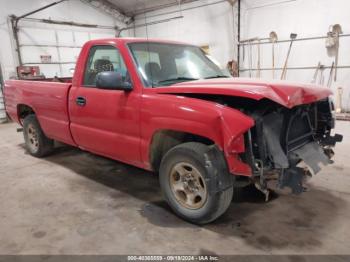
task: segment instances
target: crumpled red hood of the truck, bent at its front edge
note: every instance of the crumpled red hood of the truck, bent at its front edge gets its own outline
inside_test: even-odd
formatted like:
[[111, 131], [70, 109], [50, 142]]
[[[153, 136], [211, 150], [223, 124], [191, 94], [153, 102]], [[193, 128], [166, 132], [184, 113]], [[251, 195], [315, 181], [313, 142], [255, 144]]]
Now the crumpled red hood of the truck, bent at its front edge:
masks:
[[287, 108], [309, 104], [332, 95], [329, 88], [287, 81], [262, 81], [248, 78], [220, 78], [183, 82], [157, 87], [158, 94], [212, 94], [246, 97], [254, 100], [267, 98]]

